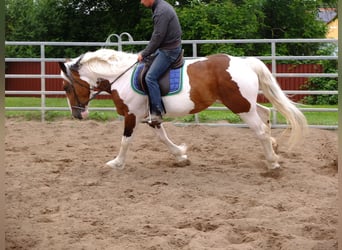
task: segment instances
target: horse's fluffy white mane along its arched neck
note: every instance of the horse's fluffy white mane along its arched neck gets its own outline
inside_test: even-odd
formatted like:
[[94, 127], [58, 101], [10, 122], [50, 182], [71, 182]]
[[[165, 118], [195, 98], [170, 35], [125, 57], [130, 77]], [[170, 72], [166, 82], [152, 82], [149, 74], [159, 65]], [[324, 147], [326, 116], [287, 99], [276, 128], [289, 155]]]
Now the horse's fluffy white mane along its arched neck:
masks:
[[84, 54], [81, 64], [100, 75], [117, 75], [137, 61], [137, 55], [112, 49], [99, 49]]

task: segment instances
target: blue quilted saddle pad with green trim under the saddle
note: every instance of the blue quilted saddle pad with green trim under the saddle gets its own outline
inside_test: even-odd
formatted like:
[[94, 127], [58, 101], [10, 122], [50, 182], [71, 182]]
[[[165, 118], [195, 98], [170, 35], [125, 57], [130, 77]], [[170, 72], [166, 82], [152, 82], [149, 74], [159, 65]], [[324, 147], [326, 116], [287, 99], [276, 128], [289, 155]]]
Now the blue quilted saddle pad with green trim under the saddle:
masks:
[[[137, 66], [135, 66], [132, 79], [131, 79], [131, 85], [134, 91], [136, 91], [139, 94], [146, 95], [145, 91], [142, 89], [140, 83], [139, 83], [139, 75], [141, 71], [144, 68], [144, 63], [140, 63]], [[182, 89], [182, 72], [183, 67], [177, 68], [177, 69], [170, 69], [170, 74], [168, 79], [164, 79], [162, 84], [169, 84], [170, 89], [169, 92], [166, 95], [174, 95], [181, 91]]]

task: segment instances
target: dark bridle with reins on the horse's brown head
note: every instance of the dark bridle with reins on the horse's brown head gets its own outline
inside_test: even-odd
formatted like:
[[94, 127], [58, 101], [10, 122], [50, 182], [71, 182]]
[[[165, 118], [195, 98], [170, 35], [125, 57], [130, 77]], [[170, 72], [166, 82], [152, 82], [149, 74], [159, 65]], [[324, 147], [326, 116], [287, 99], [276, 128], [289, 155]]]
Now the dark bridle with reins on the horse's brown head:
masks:
[[[118, 75], [112, 82], [109, 83], [108, 87], [111, 87], [117, 80], [119, 80], [124, 74], [127, 73], [127, 71], [129, 71], [131, 68], [133, 68], [136, 64], [138, 63], [138, 61], [136, 61], [135, 63], [133, 63], [131, 66], [129, 66], [126, 70], [124, 70], [120, 75]], [[96, 96], [98, 96], [102, 91], [104, 91], [103, 89], [100, 89], [98, 91], [96, 91], [95, 93], [93, 93], [91, 95], [90, 98], [88, 98], [88, 100], [84, 103], [82, 103], [77, 94], [76, 94], [76, 90], [75, 90], [75, 86], [74, 86], [74, 83], [77, 83], [79, 86], [81, 86], [82, 88], [86, 88], [88, 89], [89, 91], [93, 91], [94, 88], [90, 88], [89, 86], [86, 86], [84, 85], [83, 83], [81, 83], [80, 81], [78, 81], [77, 79], [75, 79], [73, 77], [72, 74], [66, 74], [66, 77], [68, 78], [69, 80], [69, 83], [70, 85], [68, 86], [68, 88], [71, 88], [72, 89], [72, 92], [73, 92], [73, 95], [76, 99], [76, 102], [77, 102], [77, 106], [71, 106], [71, 108], [74, 108], [74, 109], [79, 109], [81, 111], [85, 111], [85, 106], [90, 102], [92, 101], [93, 99], [96, 98]], [[65, 89], [65, 91], [70, 91], [70, 89]]]

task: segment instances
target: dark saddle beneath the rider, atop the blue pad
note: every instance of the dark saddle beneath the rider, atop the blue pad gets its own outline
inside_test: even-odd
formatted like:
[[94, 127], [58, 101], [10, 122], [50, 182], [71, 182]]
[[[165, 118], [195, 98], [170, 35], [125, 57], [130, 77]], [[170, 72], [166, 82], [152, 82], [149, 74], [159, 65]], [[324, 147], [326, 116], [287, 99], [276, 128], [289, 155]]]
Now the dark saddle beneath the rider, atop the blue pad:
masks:
[[[148, 93], [145, 76], [146, 76], [147, 71], [151, 67], [154, 59], [155, 59], [155, 56], [149, 56], [148, 58], [145, 59], [144, 68], [141, 70], [139, 77], [138, 77], [139, 85], [141, 86], [141, 89], [145, 93]], [[182, 67], [183, 64], [184, 64], [184, 50], [181, 51], [176, 61], [173, 62], [170, 65], [170, 67], [166, 70], [166, 72], [159, 78], [158, 84], [159, 84], [161, 96], [167, 95], [170, 91], [170, 81], [169, 81], [170, 71], [172, 69], [178, 69]]]

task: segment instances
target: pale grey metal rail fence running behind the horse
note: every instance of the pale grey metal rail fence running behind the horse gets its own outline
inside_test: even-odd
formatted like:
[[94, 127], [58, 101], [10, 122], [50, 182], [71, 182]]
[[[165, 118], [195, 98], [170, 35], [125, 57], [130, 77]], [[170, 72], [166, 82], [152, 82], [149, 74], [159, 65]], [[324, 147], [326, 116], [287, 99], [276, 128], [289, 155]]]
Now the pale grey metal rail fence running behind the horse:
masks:
[[[127, 36], [127, 41], [123, 38]], [[111, 42], [111, 38], [115, 37], [116, 42]], [[192, 58], [198, 57], [198, 45], [201, 44], [255, 44], [263, 43], [270, 44], [271, 51], [270, 56], [255, 56], [261, 60], [271, 61], [271, 72], [275, 77], [326, 77], [326, 78], [337, 78], [337, 73], [277, 73], [276, 65], [279, 60], [287, 61], [301, 61], [301, 60], [337, 60], [337, 55], [320, 55], [320, 56], [277, 56], [276, 49], [277, 44], [283, 43], [321, 43], [321, 44], [337, 44], [337, 39], [240, 39], [240, 40], [183, 40], [183, 45], [192, 46]], [[39, 46], [40, 57], [39, 58], [5, 58], [5, 62], [40, 62], [41, 72], [40, 74], [5, 74], [5, 78], [39, 78], [41, 84], [40, 91], [5, 91], [6, 96], [10, 95], [28, 95], [28, 94], [39, 94], [41, 97], [40, 107], [5, 107], [6, 111], [41, 111], [41, 120], [45, 121], [45, 114], [47, 111], [65, 111], [69, 110], [68, 107], [47, 107], [46, 97], [49, 95], [64, 95], [63, 91], [46, 91], [47, 78], [60, 78], [60, 75], [46, 74], [45, 62], [59, 62], [64, 61], [64, 58], [46, 58], [45, 51], [47, 46], [84, 46], [84, 47], [115, 47], [117, 50], [123, 50], [123, 46], [141, 46], [146, 45], [148, 41], [134, 41], [128, 33], [122, 33], [120, 35], [112, 34], [108, 37], [106, 42], [15, 42], [6, 41], [6, 46]], [[307, 94], [307, 95], [337, 95], [338, 91], [308, 91], [308, 90], [285, 90], [285, 94]], [[303, 112], [338, 112], [337, 108], [300, 108]], [[90, 108], [95, 111], [116, 111], [113, 108]], [[225, 107], [209, 107], [208, 110], [227, 110]], [[279, 124], [277, 121], [277, 111], [271, 108], [273, 114], [272, 127], [284, 127], [286, 125]], [[195, 116], [196, 124], [200, 123], [198, 115]], [[222, 124], [207, 124], [222, 126]], [[239, 126], [244, 127], [245, 124], [225, 124], [225, 126]], [[325, 128], [325, 129], [337, 129], [337, 125], [315, 125], [311, 127]]]

